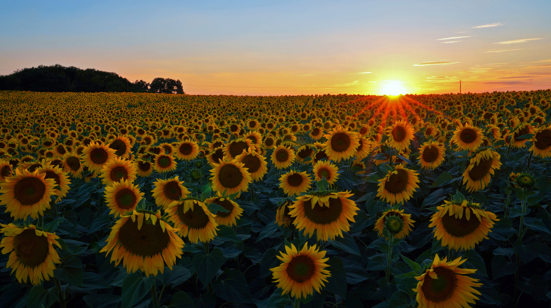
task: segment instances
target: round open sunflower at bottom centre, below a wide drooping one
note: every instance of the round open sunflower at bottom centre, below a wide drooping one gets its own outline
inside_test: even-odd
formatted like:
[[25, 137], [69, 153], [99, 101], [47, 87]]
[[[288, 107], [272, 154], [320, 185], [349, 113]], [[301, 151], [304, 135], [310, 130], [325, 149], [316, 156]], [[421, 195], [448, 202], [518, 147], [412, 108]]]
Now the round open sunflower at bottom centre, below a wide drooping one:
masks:
[[325, 250], [319, 251], [316, 244], [308, 248], [305, 243], [302, 250], [298, 251], [295, 245], [285, 246], [285, 252], [277, 256], [282, 263], [278, 267], [270, 268], [273, 278], [276, 279], [278, 288], [282, 288], [282, 294], [291, 293], [295, 299], [306, 298], [314, 294], [314, 290], [320, 292], [323, 283], [331, 273], [325, 270], [329, 265], [329, 258], [325, 257]]

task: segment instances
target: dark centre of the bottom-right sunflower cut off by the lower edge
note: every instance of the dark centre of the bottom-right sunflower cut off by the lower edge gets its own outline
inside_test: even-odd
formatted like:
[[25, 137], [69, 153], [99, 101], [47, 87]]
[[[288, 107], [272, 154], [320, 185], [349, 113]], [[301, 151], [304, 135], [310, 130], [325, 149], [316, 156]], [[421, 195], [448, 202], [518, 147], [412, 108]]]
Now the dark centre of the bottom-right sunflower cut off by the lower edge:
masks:
[[457, 287], [457, 278], [452, 270], [444, 267], [436, 267], [434, 272], [438, 279], [433, 279], [426, 274], [421, 289], [426, 299], [440, 303], [453, 295], [453, 291]]

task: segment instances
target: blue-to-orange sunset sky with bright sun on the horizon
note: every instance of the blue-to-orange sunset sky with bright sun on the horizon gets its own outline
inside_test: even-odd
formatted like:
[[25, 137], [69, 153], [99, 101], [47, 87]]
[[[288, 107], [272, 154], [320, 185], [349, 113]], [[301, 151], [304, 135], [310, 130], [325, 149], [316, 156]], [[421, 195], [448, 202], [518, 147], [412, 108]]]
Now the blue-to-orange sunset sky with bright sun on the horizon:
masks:
[[551, 1], [6, 1], [0, 74], [62, 64], [188, 94], [551, 88]]

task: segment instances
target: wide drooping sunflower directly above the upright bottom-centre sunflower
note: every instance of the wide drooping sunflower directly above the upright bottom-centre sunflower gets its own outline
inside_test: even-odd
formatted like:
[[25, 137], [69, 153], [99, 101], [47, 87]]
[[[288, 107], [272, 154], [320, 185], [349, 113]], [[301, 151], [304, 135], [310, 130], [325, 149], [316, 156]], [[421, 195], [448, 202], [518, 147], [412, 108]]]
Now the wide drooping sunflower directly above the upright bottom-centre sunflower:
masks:
[[343, 230], [350, 230], [350, 223], [354, 221], [356, 203], [348, 197], [348, 191], [338, 193], [304, 195], [296, 198], [289, 206], [291, 217], [295, 217], [293, 224], [299, 230], [304, 229], [304, 235], [311, 238], [317, 232], [317, 240], [334, 240], [337, 235], [343, 236]]

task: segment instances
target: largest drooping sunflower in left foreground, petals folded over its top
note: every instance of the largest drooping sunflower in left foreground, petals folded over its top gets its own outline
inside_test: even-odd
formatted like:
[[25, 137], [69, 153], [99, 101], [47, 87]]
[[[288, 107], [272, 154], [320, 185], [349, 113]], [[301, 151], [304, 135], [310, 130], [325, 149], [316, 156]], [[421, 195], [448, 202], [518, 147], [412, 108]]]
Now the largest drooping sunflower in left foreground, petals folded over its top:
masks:
[[128, 273], [141, 270], [147, 277], [156, 276], [164, 272], [165, 263], [172, 270], [176, 257], [182, 256], [183, 241], [176, 232], [161, 219], [160, 211], [133, 210], [118, 219], [100, 252], [109, 254], [112, 250], [111, 262], [118, 266], [122, 260]]

